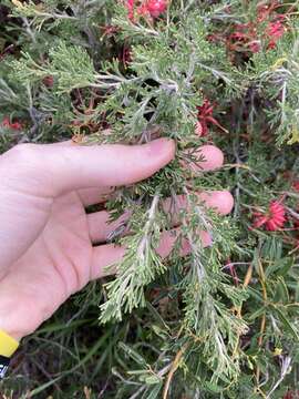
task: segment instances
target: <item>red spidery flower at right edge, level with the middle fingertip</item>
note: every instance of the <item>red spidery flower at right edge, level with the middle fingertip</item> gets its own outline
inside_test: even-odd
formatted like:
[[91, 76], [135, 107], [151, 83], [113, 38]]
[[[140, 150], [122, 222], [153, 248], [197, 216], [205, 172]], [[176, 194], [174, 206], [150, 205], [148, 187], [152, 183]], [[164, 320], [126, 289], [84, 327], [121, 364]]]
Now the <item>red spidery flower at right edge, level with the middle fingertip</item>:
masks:
[[270, 202], [267, 213], [255, 212], [254, 216], [252, 227], [258, 228], [265, 225], [265, 228], [269, 232], [281, 228], [287, 219], [285, 206], [278, 201]]

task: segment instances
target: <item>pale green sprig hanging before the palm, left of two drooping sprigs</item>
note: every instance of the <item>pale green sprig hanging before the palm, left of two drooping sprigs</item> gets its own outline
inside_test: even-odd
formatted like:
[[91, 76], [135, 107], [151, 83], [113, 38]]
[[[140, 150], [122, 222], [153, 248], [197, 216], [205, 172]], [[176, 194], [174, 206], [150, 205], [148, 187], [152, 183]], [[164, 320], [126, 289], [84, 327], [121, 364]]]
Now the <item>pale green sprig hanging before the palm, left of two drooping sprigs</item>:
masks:
[[[155, 252], [159, 238], [157, 213], [159, 196], [156, 194], [147, 213], [135, 213], [131, 218], [133, 237], [123, 241], [127, 250], [122, 260], [117, 278], [106, 284], [107, 301], [101, 306], [101, 320], [106, 323], [113, 318], [122, 320], [122, 311], [131, 313], [138, 306], [145, 306], [144, 286], [152, 283], [156, 275], [166, 267]], [[141, 225], [144, 226], [141, 229]]]

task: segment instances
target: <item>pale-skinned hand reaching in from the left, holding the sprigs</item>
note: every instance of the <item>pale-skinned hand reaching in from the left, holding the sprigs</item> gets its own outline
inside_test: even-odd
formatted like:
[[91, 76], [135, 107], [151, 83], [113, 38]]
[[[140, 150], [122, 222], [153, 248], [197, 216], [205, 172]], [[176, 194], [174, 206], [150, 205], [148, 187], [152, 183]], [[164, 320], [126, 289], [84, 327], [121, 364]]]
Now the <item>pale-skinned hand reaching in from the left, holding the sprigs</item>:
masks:
[[[205, 156], [203, 171], [221, 166], [215, 146], [198, 153]], [[107, 212], [87, 215], [85, 207], [104, 202], [113, 187], [147, 178], [174, 156], [175, 144], [166, 139], [136, 146], [22, 144], [0, 155], [0, 329], [20, 340], [121, 260], [125, 248], [106, 243], [120, 222], [107, 224]], [[224, 215], [231, 211], [226, 191], [199, 196]], [[185, 206], [184, 197], [178, 203]], [[174, 239], [163, 235], [161, 256]]]

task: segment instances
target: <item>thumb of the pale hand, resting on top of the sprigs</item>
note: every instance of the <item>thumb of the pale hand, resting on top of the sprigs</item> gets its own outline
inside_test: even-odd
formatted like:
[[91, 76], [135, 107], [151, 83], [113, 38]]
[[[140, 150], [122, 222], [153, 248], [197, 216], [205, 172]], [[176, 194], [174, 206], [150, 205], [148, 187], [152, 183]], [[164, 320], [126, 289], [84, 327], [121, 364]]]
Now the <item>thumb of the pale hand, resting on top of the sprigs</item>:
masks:
[[[59, 192], [83, 187], [118, 186], [150, 177], [171, 162], [173, 141], [161, 139], [144, 145], [61, 147], [50, 158]], [[52, 160], [53, 157], [53, 160]]]

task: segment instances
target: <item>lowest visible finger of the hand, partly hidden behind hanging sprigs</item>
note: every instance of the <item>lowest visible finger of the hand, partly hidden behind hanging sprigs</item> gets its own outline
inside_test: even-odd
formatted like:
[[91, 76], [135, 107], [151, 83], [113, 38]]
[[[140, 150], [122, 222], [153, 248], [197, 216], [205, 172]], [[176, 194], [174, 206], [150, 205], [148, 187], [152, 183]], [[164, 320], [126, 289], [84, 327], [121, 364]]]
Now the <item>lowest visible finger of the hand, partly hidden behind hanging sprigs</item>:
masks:
[[[212, 238], [206, 232], [198, 232], [202, 239], [203, 247], [212, 245]], [[176, 241], [179, 237], [179, 228], [169, 232], [163, 232], [161, 242], [156, 249], [162, 258], [166, 258]], [[186, 239], [181, 243], [181, 256], [186, 256], [190, 253], [190, 245]], [[93, 247], [91, 278], [96, 279], [116, 273], [116, 264], [122, 260], [125, 255], [125, 248], [114, 244], [101, 245]]]

